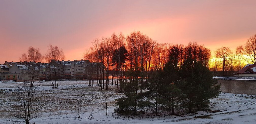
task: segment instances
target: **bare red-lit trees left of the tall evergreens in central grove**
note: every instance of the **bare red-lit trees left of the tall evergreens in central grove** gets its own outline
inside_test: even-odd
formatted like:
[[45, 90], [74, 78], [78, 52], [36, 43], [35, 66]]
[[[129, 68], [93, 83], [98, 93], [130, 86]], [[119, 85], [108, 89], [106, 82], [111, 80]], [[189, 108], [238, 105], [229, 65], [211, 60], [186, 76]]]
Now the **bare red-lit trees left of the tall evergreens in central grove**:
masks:
[[[166, 62], [165, 52], [168, 46], [169, 44], [158, 44], [140, 32], [133, 32], [127, 37], [122, 33], [114, 33], [110, 37], [101, 38], [101, 40], [94, 39], [93, 47], [90, 48], [90, 51], [84, 53], [84, 59], [101, 63], [97, 70], [105, 68], [105, 74], [104, 71], [102, 73], [97, 71], [98, 85], [101, 89], [104, 89], [104, 80], [102, 79], [105, 76], [106, 89], [108, 89], [108, 85], [110, 85], [109, 70], [112, 70], [115, 71], [112, 78], [117, 79], [115, 84], [117, 87], [120, 85], [120, 91], [122, 91], [123, 82], [126, 81], [125, 71], [134, 68], [134, 65], [137, 66], [136, 70], [142, 72], [162, 68]], [[157, 51], [155, 48], [158, 48]], [[113, 85], [113, 82], [111, 85]]]

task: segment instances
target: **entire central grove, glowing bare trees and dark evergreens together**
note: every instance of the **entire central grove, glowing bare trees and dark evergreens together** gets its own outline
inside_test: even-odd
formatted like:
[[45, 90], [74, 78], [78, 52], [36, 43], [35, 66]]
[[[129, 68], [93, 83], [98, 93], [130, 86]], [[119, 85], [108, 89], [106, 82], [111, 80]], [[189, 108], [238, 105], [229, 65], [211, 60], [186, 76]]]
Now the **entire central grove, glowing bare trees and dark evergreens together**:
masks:
[[[219, 95], [220, 85], [209, 71], [211, 51], [196, 42], [185, 45], [159, 44], [140, 32], [126, 38], [122, 34], [95, 39], [85, 59], [116, 70], [119, 91], [116, 112], [143, 111], [151, 108], [200, 110]], [[104, 84], [103, 84], [104, 85]], [[108, 84], [106, 84], [106, 89]], [[118, 87], [118, 83], [117, 83]]]

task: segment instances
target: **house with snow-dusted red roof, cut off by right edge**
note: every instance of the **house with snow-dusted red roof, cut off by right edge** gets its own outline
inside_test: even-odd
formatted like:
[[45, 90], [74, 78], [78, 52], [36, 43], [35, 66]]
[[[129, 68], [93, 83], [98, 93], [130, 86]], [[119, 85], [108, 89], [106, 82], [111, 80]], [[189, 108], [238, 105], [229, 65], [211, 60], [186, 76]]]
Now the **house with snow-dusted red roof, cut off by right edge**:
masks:
[[247, 64], [237, 74], [240, 77], [256, 77], [256, 64]]

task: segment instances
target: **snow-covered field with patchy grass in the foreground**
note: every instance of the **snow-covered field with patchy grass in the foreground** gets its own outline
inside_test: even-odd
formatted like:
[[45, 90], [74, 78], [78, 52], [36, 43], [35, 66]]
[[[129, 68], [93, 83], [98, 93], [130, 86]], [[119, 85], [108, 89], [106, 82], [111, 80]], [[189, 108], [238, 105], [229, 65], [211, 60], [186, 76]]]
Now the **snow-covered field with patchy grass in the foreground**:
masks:
[[[256, 123], [256, 98], [253, 95], [240, 95], [221, 93], [218, 98], [213, 98], [209, 109], [194, 114], [170, 115], [161, 113], [155, 116], [150, 111], [139, 115], [120, 116], [114, 113], [115, 99], [122, 96], [117, 93], [116, 85], [109, 86], [108, 115], [102, 107], [104, 104], [105, 90], [101, 91], [97, 82], [94, 87], [88, 86], [88, 81], [59, 81], [59, 88], [54, 89], [51, 82], [41, 82], [39, 91], [43, 92], [47, 103], [40, 111], [41, 117], [31, 120], [36, 124], [48, 123], [213, 123], [213, 124], [255, 124]], [[13, 92], [19, 85], [17, 82], [0, 82], [0, 123], [9, 124], [5, 109], [13, 100]], [[35, 82], [37, 85], [37, 82]], [[82, 95], [82, 97], [80, 97]], [[82, 98], [81, 119], [78, 119], [76, 104]]]

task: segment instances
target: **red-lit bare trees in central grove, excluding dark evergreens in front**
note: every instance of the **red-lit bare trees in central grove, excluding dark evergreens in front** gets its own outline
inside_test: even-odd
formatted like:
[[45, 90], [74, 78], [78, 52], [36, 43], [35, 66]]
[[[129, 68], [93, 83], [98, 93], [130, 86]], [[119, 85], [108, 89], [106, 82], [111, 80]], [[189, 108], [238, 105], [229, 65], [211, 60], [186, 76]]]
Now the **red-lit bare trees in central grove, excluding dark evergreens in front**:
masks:
[[[133, 32], [126, 37], [120, 33], [112, 34], [110, 37], [103, 37], [101, 40], [94, 39], [93, 47], [84, 53], [84, 59], [105, 65], [107, 85], [109, 85], [108, 72], [109, 70], [114, 70], [116, 74], [112, 76], [118, 79], [117, 87], [120, 85], [120, 91], [122, 92], [123, 82], [127, 81], [127, 76], [124, 72], [129, 70], [140, 71], [147, 79], [150, 72], [163, 70], [164, 65], [169, 60], [169, 51], [172, 47], [179, 49], [177, 66], [183, 64], [187, 54], [186, 50], [189, 48], [194, 58], [201, 61], [205, 67], [209, 66], [211, 51], [203, 45], [199, 45], [196, 42], [189, 43], [188, 46], [156, 43], [155, 40], [140, 32]], [[99, 74], [99, 77], [102, 74]], [[106, 88], [108, 88], [107, 85]]]

